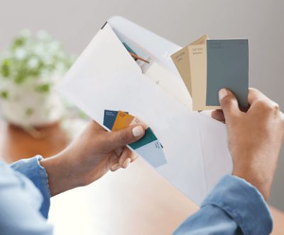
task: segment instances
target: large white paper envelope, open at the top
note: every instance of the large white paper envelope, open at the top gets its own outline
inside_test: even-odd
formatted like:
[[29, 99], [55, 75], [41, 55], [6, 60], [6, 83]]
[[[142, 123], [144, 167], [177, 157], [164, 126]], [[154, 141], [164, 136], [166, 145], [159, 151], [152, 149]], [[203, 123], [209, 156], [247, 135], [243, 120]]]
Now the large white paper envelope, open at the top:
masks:
[[[148, 70], [122, 43], [153, 61]], [[102, 126], [107, 109], [139, 116], [163, 143], [167, 163], [153, 169], [200, 204], [220, 177], [230, 173], [231, 158], [224, 124], [190, 111], [190, 95], [170, 59], [177, 50], [178, 45], [115, 16], [94, 36], [58, 90]], [[144, 159], [151, 164], [153, 158]]]

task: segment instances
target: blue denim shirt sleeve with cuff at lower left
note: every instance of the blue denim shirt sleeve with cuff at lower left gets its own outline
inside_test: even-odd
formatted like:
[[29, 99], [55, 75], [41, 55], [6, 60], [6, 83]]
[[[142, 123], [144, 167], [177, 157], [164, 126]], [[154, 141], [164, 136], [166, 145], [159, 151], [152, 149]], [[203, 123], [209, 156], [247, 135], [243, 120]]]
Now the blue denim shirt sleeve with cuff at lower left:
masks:
[[[1, 235], [53, 234], [53, 226], [43, 217], [48, 212], [49, 190], [47, 175], [38, 165], [38, 160], [40, 157], [21, 160], [13, 165], [0, 161]], [[43, 204], [45, 209], [40, 212]]]

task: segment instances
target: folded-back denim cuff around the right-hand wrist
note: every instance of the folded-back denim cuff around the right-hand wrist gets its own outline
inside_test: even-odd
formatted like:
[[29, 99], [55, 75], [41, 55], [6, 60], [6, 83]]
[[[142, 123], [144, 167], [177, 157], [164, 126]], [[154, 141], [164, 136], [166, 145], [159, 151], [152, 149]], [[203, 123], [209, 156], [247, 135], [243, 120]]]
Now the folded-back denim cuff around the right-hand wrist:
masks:
[[260, 192], [246, 180], [226, 175], [204, 200], [223, 209], [244, 234], [271, 234], [273, 220]]

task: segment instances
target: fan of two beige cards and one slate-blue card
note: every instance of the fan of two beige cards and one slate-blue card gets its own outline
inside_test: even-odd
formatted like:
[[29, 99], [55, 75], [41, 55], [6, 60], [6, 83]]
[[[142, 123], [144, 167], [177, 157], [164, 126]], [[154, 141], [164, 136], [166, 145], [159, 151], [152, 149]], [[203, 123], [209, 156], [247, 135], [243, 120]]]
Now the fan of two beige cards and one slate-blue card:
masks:
[[192, 97], [192, 109], [219, 109], [219, 89], [230, 89], [248, 106], [248, 40], [195, 40], [171, 56]]

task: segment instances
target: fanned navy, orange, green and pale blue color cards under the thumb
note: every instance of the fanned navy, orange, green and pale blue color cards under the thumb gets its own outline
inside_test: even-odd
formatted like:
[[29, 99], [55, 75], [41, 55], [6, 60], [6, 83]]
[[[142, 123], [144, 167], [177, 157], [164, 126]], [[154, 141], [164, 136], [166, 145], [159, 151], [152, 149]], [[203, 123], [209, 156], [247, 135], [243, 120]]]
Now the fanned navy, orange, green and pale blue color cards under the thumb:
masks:
[[167, 163], [163, 146], [153, 131], [141, 119], [124, 111], [104, 110], [104, 126], [111, 131], [119, 131], [128, 126], [141, 125], [146, 129], [145, 136], [139, 141], [129, 144], [129, 147], [143, 156], [151, 165], [157, 168]]

